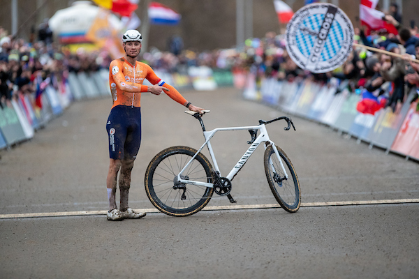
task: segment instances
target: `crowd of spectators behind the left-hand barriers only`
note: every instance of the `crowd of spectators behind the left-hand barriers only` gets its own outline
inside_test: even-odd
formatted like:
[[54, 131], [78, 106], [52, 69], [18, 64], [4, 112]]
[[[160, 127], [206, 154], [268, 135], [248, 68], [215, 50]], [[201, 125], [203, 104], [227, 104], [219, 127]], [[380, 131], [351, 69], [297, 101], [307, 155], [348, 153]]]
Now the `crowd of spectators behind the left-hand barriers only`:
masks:
[[45, 86], [56, 89], [65, 82], [71, 71], [93, 71], [108, 67], [110, 56], [105, 52], [76, 54], [54, 44], [49, 29], [39, 30], [38, 38], [27, 42], [14, 38], [0, 27], [0, 106], [10, 105], [12, 98], [27, 94], [34, 105], [42, 107], [38, 99]]

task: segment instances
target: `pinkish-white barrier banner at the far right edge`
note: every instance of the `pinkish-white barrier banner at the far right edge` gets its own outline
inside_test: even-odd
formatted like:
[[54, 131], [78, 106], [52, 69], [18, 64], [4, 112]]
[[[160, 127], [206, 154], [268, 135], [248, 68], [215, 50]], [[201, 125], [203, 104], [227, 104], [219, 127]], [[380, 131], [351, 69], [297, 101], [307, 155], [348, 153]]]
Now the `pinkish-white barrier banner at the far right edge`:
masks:
[[419, 112], [416, 111], [417, 106], [418, 103], [415, 102], [409, 107], [391, 150], [419, 160]]

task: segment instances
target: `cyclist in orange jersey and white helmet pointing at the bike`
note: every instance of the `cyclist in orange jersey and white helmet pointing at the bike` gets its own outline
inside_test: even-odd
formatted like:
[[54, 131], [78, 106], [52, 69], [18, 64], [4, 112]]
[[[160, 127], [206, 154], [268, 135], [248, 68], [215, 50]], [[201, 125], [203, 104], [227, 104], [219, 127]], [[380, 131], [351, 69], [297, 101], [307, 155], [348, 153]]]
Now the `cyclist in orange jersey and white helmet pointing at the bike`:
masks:
[[[122, 36], [124, 57], [115, 59], [109, 67], [109, 85], [112, 93], [112, 109], [106, 130], [108, 131], [110, 163], [106, 186], [108, 188], [108, 220], [142, 218], [128, 207], [128, 193], [131, 185], [131, 170], [140, 149], [141, 142], [141, 92], [160, 95], [162, 91], [193, 112], [202, 113], [203, 108], [191, 105], [174, 87], [166, 84], [145, 63], [136, 61], [141, 50], [142, 36], [137, 30], [128, 30]], [[142, 85], [144, 79], [152, 86]], [[120, 171], [120, 172], [119, 172]], [[117, 174], [119, 172], [119, 210], [115, 202]]]

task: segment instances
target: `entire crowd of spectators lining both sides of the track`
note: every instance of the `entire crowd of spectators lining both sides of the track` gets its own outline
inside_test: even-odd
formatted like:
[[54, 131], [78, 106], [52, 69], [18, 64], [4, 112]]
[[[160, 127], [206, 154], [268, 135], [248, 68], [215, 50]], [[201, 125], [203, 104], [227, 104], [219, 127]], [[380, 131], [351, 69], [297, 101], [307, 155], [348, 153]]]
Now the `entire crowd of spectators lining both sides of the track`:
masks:
[[[348, 60], [330, 73], [313, 74], [299, 68], [286, 52], [284, 34], [274, 32], [268, 32], [260, 39], [249, 38], [238, 50], [197, 52], [183, 50], [183, 44], [177, 44], [177, 47], [169, 47], [171, 51], [168, 52], [152, 48], [142, 54], [140, 60], [169, 73], [187, 73], [191, 66], [221, 68], [233, 73], [253, 72], [257, 81], [273, 77], [289, 82], [308, 79], [326, 84], [330, 78], [337, 77], [347, 80], [352, 92], [362, 89], [376, 98], [384, 97], [383, 106], [390, 106], [398, 112], [410, 88], [419, 86], [419, 64], [409, 61], [419, 59], [419, 34], [414, 24], [410, 27], [402, 25], [394, 7], [391, 15], [385, 18], [397, 28], [397, 35], [385, 29], [367, 34], [363, 28], [355, 28], [355, 43], [402, 54], [402, 58], [354, 47]], [[45, 82], [57, 86], [71, 71], [108, 68], [111, 59], [107, 53], [80, 50], [71, 54], [65, 49], [58, 50], [50, 35], [43, 30], [38, 40], [27, 43], [21, 38], [8, 36], [7, 31], [0, 27], [0, 104], [20, 93], [36, 96]]]

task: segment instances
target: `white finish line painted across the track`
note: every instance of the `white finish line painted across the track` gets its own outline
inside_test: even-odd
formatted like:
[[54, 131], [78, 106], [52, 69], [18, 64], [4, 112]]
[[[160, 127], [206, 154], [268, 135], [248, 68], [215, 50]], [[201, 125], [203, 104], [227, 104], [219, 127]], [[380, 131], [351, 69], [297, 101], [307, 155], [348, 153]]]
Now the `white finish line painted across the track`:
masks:
[[[419, 203], [419, 199], [378, 199], [367, 201], [345, 201], [345, 202], [302, 202], [301, 207], [315, 206], [355, 206], [370, 204], [412, 204]], [[240, 210], [240, 209], [274, 209], [281, 207], [279, 204], [242, 204], [227, 206], [206, 206], [203, 211], [217, 210]], [[158, 213], [157, 209], [134, 209], [135, 211]], [[0, 219], [10, 218], [40, 218], [40, 217], [64, 217], [64, 216], [91, 216], [105, 215], [106, 210], [101, 211], [66, 211], [66, 212], [45, 212], [45, 213], [22, 213], [22, 214], [0, 214]]]

